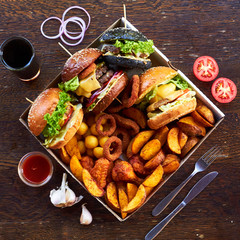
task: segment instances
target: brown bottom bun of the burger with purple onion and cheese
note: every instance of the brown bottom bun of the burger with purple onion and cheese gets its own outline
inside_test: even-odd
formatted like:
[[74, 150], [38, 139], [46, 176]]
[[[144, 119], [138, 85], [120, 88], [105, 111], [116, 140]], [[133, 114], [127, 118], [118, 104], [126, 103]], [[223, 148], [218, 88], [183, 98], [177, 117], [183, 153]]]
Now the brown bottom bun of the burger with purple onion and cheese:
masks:
[[93, 108], [94, 113], [100, 113], [104, 111], [112, 101], [122, 92], [128, 83], [128, 76], [126, 73], [117, 80], [117, 83], [113, 85], [110, 91], [97, 103]]

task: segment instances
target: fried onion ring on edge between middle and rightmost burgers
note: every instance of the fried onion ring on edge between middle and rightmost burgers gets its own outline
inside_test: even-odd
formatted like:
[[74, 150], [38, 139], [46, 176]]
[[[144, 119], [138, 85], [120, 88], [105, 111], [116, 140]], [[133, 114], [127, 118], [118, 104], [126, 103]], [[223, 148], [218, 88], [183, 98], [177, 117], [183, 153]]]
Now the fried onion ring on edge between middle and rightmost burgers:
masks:
[[122, 96], [122, 104], [125, 108], [131, 107], [138, 99], [139, 85], [139, 76], [133, 75]]

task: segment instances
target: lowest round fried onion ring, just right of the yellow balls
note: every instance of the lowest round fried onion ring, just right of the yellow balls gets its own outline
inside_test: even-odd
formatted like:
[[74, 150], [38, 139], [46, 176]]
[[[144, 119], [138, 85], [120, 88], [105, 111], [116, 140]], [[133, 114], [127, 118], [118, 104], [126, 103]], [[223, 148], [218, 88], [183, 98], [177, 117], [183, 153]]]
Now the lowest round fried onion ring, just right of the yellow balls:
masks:
[[122, 154], [122, 140], [111, 136], [103, 145], [103, 155], [109, 161], [115, 161]]

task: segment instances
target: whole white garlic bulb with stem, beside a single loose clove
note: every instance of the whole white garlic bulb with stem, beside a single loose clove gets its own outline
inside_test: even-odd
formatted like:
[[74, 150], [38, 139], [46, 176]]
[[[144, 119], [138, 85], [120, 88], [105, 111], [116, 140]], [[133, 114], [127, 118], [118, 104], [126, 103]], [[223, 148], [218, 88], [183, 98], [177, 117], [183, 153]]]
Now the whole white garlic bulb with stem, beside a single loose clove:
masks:
[[76, 197], [72, 189], [68, 187], [67, 174], [63, 173], [62, 183], [60, 188], [53, 189], [50, 191], [50, 200], [55, 207], [71, 207], [72, 205], [78, 203], [83, 196]]

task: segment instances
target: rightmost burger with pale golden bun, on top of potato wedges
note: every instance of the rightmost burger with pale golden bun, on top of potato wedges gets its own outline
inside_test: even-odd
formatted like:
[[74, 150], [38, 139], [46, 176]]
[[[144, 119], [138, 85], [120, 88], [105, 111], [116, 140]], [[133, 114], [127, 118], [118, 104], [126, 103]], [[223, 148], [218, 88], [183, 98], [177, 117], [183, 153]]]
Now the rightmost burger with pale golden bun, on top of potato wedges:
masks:
[[195, 110], [196, 92], [170, 67], [153, 67], [140, 75], [138, 108], [148, 116], [148, 126], [158, 129]]

